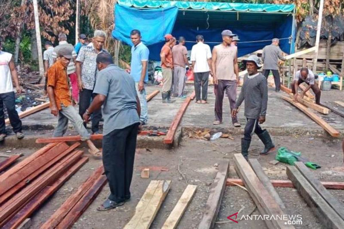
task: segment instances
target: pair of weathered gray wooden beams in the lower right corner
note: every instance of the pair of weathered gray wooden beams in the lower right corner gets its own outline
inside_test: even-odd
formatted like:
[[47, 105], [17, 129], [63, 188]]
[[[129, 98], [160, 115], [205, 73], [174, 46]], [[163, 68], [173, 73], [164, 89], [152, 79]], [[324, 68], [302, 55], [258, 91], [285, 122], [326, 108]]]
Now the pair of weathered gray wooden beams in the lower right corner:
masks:
[[295, 167], [288, 166], [287, 175], [325, 228], [344, 228], [343, 204], [326, 190], [303, 162], [295, 162]]

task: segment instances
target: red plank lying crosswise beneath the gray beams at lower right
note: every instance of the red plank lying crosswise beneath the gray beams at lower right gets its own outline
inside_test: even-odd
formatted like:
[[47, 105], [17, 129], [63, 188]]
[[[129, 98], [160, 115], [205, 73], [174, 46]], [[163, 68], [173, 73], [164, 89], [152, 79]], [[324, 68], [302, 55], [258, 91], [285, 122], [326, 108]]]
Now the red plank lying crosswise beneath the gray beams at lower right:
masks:
[[[290, 180], [270, 180], [270, 182], [274, 187], [286, 187], [286, 188], [295, 187]], [[235, 185], [235, 184], [245, 185], [241, 179], [227, 178], [226, 185]], [[324, 187], [327, 189], [344, 189], [344, 182], [321, 181], [321, 184], [324, 185]]]

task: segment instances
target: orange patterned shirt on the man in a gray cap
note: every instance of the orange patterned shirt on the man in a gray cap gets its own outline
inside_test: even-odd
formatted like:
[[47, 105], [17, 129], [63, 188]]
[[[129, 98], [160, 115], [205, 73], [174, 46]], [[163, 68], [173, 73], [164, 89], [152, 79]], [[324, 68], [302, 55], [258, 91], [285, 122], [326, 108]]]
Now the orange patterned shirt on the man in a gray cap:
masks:
[[[47, 86], [54, 88], [54, 97], [56, 107], [61, 110], [61, 104], [64, 106], [72, 105], [72, 96], [69, 87], [69, 81], [67, 76], [67, 68], [64, 67], [60, 60], [57, 60], [47, 72], [48, 83]], [[52, 104], [50, 103], [50, 106]]]

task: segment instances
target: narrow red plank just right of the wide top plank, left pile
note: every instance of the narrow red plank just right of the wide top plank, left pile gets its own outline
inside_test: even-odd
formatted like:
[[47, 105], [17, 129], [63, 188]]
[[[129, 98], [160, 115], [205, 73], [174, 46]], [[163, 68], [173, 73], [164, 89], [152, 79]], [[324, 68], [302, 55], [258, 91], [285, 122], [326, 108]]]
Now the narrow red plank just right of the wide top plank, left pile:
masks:
[[[65, 143], [62, 144], [63, 146], [66, 145]], [[55, 157], [54, 159], [50, 160], [49, 162], [45, 163], [41, 168], [35, 170], [34, 172], [32, 172], [31, 174], [29, 174], [28, 176], [24, 177], [19, 183], [17, 183], [16, 185], [14, 185], [11, 189], [9, 189], [6, 193], [4, 193], [3, 195], [0, 196], [0, 204], [2, 204], [4, 201], [6, 201], [9, 197], [11, 197], [14, 193], [18, 192], [18, 190], [20, 190], [22, 187], [29, 185], [32, 180], [34, 180], [34, 178], [36, 176], [38, 176], [39, 174], [41, 174], [42, 172], [44, 172], [46, 169], [48, 169], [49, 167], [51, 167], [53, 164], [55, 164], [57, 161], [59, 161], [60, 159], [62, 159], [63, 157], [65, 157], [68, 153], [72, 152], [75, 148], [77, 148], [80, 145], [80, 143], [76, 142], [75, 144], [73, 144], [71, 147], [69, 147], [68, 149], [66, 149], [63, 152], [60, 152], [60, 154]], [[67, 146], [67, 145], [66, 145]], [[56, 146], [57, 147], [57, 146]], [[68, 146], [67, 146], [68, 147]], [[52, 148], [51, 150], [55, 149]], [[50, 151], [47, 151], [47, 153], [50, 153]], [[30, 165], [30, 164], [29, 164]]]

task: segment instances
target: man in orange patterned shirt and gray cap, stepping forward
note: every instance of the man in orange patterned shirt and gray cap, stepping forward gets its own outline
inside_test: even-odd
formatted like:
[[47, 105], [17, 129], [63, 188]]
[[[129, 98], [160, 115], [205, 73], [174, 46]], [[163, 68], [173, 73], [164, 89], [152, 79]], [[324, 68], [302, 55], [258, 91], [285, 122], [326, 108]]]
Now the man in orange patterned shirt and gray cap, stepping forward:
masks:
[[94, 156], [100, 156], [100, 151], [89, 140], [90, 134], [83, 124], [83, 120], [72, 104], [72, 93], [69, 78], [67, 77], [67, 66], [72, 56], [73, 48], [62, 47], [58, 50], [58, 60], [47, 72], [47, 92], [50, 99], [50, 110], [54, 116], [58, 115], [58, 123], [54, 131], [54, 137], [62, 137], [68, 128], [68, 120], [72, 122], [74, 128], [81, 136], [82, 141], [86, 141], [89, 152]]

